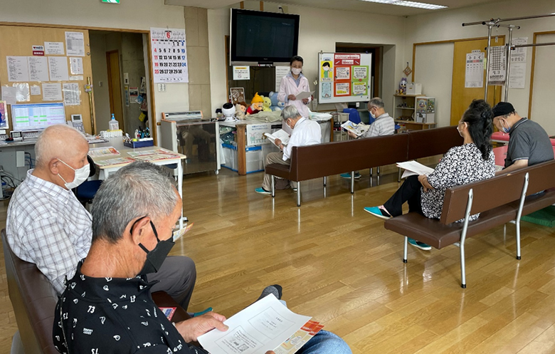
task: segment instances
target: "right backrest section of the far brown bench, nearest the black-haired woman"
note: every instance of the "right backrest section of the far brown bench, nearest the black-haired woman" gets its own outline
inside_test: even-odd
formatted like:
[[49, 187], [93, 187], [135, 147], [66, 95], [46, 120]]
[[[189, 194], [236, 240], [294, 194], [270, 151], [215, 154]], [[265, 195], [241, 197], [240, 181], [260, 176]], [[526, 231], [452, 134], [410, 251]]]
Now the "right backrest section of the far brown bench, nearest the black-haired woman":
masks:
[[462, 137], [457, 127], [437, 127], [434, 129], [408, 132], [407, 160], [443, 155], [451, 147], [462, 145]]

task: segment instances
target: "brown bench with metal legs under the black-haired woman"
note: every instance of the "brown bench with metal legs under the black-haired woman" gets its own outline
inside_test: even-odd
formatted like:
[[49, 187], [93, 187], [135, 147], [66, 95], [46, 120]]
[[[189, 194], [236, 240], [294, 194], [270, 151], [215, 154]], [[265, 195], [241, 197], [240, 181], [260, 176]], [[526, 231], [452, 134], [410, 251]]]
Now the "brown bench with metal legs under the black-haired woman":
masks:
[[[466, 288], [465, 240], [515, 220], [517, 259], [520, 253], [520, 218], [555, 203], [555, 160], [499, 175], [491, 179], [447, 189], [441, 218], [429, 219], [418, 213], [388, 219], [384, 227], [405, 236], [403, 262], [407, 261], [408, 237], [436, 249], [460, 246], [461, 286]], [[529, 197], [527, 197], [529, 195]], [[481, 213], [468, 222], [468, 217]], [[465, 219], [464, 222], [457, 222]]]

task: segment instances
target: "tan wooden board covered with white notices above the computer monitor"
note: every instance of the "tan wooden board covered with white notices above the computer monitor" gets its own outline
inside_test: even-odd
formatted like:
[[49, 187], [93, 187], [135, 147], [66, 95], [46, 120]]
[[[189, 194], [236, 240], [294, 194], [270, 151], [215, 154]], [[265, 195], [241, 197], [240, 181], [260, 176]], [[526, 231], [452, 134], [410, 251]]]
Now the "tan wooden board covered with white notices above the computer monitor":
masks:
[[[80, 114], [93, 134], [94, 97], [85, 92], [92, 76], [88, 31], [0, 25], [0, 86], [18, 88], [17, 104], [63, 102], [65, 120]], [[12, 127], [10, 105], [8, 114]]]

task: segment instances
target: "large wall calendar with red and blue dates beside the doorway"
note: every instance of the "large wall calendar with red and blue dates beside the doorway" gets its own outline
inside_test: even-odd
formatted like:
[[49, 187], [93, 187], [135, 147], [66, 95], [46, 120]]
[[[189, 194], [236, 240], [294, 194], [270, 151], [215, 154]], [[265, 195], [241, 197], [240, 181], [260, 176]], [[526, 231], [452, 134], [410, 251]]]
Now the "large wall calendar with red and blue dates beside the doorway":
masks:
[[154, 83], [188, 83], [185, 30], [150, 28]]

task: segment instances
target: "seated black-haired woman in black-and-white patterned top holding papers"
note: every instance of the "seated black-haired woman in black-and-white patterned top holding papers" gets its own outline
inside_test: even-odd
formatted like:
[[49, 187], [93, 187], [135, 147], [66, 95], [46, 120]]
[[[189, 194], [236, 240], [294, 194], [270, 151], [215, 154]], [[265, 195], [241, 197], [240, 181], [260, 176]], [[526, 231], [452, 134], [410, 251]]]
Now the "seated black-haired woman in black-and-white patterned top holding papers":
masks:
[[[464, 138], [461, 146], [450, 148], [435, 170], [429, 175], [407, 177], [401, 188], [379, 207], [366, 207], [364, 211], [375, 217], [389, 219], [408, 212], [418, 212], [430, 219], [439, 219], [445, 198], [445, 189], [495, 176], [495, 157], [492, 151], [492, 108], [485, 100], [473, 100], [462, 115], [457, 130]], [[470, 216], [475, 220], [479, 214]], [[430, 246], [413, 239], [408, 242], [419, 249]]]

